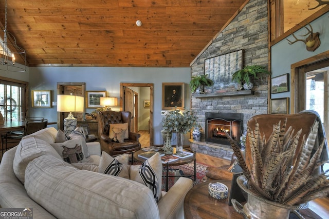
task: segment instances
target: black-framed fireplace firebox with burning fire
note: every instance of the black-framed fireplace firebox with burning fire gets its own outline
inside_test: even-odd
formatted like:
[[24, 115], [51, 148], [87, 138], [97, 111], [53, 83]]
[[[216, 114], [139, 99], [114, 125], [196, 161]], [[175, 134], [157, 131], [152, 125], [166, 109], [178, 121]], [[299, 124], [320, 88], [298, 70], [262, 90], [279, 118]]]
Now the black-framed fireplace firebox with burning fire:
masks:
[[233, 140], [240, 142], [240, 136], [243, 133], [243, 114], [206, 112], [205, 129], [207, 143], [231, 145], [225, 132]]

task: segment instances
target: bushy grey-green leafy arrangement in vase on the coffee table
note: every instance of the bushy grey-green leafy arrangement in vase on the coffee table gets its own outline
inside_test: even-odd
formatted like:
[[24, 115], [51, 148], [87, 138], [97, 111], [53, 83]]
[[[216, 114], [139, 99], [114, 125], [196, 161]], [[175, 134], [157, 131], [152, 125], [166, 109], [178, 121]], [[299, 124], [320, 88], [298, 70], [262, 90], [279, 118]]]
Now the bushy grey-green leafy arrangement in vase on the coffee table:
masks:
[[174, 110], [167, 113], [166, 117], [162, 118], [163, 129], [169, 132], [179, 132], [186, 134], [193, 127], [197, 126], [196, 116], [189, 109], [180, 111], [175, 107]]

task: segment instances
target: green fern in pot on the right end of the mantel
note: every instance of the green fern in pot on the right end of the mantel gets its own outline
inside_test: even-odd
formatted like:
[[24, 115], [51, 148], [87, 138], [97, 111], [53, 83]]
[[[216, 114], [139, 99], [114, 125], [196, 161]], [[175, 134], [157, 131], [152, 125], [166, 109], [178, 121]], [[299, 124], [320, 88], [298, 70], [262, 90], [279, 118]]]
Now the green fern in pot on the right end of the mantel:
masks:
[[264, 66], [260, 65], [251, 65], [245, 66], [243, 69], [237, 70], [232, 74], [232, 81], [240, 83], [245, 90], [251, 90], [253, 84], [250, 79], [259, 79], [261, 74], [271, 74]]

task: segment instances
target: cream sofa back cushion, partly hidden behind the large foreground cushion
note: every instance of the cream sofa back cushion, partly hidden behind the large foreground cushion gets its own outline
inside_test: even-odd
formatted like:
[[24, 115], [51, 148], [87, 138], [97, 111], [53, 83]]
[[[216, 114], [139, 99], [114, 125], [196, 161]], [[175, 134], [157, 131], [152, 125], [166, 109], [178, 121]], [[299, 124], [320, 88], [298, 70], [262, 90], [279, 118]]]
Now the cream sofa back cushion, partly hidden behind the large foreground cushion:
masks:
[[61, 158], [61, 156], [53, 147], [51, 147], [49, 143], [41, 140], [40, 138], [30, 136], [23, 138], [19, 143], [14, 157], [13, 169], [16, 177], [19, 178], [23, 184], [25, 169], [28, 163], [34, 158], [45, 154]]

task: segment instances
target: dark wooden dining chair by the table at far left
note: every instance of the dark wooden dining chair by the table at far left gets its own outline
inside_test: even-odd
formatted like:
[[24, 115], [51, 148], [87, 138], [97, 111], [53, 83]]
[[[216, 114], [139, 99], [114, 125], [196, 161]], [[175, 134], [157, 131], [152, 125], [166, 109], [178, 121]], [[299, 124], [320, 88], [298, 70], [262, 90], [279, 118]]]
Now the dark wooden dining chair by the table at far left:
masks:
[[10, 131], [2, 136], [2, 154], [9, 149], [7, 148], [8, 140], [10, 143], [20, 142], [24, 136], [47, 128], [47, 124], [48, 120], [42, 117], [28, 117], [25, 121], [24, 131]]

